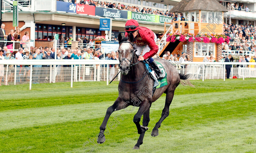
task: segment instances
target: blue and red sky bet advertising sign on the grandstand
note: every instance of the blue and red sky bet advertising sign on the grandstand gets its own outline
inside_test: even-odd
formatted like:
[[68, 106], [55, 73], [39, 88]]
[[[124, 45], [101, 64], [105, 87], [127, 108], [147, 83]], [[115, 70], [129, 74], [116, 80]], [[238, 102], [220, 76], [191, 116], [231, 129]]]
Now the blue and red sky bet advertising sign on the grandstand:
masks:
[[92, 5], [73, 4], [68, 2], [56, 1], [56, 10], [95, 16], [95, 7]]

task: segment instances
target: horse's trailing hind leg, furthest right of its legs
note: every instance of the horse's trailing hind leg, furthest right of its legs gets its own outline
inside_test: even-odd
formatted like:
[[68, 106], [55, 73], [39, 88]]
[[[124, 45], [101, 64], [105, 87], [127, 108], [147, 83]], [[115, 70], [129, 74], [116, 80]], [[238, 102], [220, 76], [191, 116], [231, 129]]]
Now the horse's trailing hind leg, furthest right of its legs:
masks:
[[[174, 88], [174, 90], [175, 90], [175, 88]], [[172, 103], [174, 90], [168, 91], [166, 93], [165, 107], [162, 111], [162, 116], [161, 116], [160, 120], [155, 124], [155, 127], [153, 128], [153, 130], [151, 132], [151, 136], [153, 136], [153, 137], [158, 136], [158, 128], [161, 127], [162, 121], [169, 115], [169, 107], [170, 107], [170, 104]]]

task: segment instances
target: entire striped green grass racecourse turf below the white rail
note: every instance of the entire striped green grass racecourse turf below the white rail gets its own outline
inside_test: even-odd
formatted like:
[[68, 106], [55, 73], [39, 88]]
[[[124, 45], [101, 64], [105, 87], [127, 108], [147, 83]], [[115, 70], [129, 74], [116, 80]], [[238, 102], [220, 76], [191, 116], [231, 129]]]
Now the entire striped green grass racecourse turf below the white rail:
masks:
[[[152, 104], [149, 130], [140, 150], [132, 150], [139, 134], [133, 116], [108, 129], [106, 142], [94, 145], [106, 109], [118, 96], [118, 82], [1, 86], [0, 152], [256, 152], [256, 79], [193, 80], [179, 85], [170, 115], [150, 133], [164, 107], [165, 94]], [[128, 107], [127, 109], [131, 109]]]

